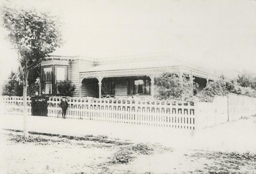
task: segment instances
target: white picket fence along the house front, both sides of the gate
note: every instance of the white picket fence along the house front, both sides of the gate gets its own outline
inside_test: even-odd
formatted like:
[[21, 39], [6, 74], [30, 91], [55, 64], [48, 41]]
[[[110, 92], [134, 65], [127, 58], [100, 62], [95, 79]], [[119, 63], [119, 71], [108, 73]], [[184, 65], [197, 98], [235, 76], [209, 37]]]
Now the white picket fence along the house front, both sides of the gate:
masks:
[[[195, 129], [194, 106], [181, 101], [116, 100], [111, 98], [68, 98], [67, 118], [121, 122], [182, 129]], [[31, 115], [31, 99], [28, 97]], [[22, 97], [1, 97], [1, 110], [22, 114]], [[60, 97], [50, 97], [48, 117], [60, 117]]]

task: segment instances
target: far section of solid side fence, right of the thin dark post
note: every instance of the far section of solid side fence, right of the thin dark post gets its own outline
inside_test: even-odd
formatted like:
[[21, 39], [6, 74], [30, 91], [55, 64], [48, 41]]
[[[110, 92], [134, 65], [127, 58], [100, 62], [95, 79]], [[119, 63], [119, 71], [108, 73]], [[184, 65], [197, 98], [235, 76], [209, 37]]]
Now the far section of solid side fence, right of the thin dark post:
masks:
[[234, 121], [242, 117], [256, 114], [256, 98], [228, 94], [228, 120]]

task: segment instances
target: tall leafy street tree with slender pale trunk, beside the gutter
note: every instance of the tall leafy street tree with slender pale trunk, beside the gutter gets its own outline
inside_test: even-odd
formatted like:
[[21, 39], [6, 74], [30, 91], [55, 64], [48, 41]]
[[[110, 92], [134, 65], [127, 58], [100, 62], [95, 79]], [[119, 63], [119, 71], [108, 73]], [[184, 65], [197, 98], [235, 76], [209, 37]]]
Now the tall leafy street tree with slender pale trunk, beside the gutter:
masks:
[[63, 44], [59, 18], [37, 10], [3, 8], [4, 27], [8, 38], [18, 53], [23, 82], [23, 133], [27, 130], [28, 74], [40, 65], [44, 57]]

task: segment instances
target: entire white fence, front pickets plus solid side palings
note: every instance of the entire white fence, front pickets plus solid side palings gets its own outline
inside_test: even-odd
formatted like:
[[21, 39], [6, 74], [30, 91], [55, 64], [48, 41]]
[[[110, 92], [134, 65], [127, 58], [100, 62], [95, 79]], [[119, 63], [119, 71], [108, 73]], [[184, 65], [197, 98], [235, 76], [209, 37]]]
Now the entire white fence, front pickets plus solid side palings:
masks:
[[[61, 118], [60, 97], [50, 97], [48, 117]], [[181, 129], [200, 129], [256, 114], [256, 98], [229, 94], [212, 103], [133, 100], [130, 98], [68, 98], [68, 119], [83, 119], [151, 125]], [[27, 98], [31, 115], [31, 98]], [[0, 97], [1, 113], [23, 114], [23, 99]]]

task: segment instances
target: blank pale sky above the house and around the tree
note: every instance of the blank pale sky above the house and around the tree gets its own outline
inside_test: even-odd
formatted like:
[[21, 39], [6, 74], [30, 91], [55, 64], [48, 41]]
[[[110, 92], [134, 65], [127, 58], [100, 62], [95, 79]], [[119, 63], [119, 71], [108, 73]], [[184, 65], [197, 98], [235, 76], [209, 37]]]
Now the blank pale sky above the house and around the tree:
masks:
[[[10, 0], [58, 15], [66, 43], [53, 55], [168, 53], [212, 69], [256, 73], [255, 0]], [[0, 26], [0, 83], [18, 68]], [[161, 60], [159, 60], [161, 61]]]

